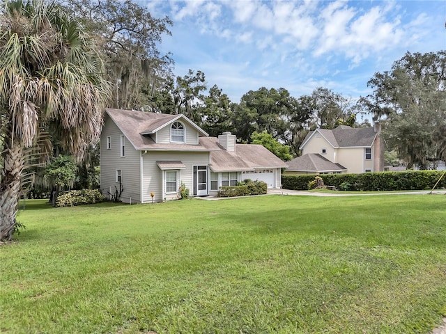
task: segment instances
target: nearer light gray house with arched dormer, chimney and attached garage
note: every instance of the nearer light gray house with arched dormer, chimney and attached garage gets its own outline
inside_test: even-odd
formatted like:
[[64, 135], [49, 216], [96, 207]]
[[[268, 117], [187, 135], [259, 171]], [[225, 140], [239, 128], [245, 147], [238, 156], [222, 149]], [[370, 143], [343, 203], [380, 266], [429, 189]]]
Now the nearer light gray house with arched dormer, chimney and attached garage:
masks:
[[191, 196], [216, 194], [245, 179], [281, 187], [286, 164], [262, 145], [236, 144], [230, 132], [209, 137], [183, 115], [106, 109], [100, 136], [104, 195], [121, 182], [123, 202], [175, 200], [183, 182]]

